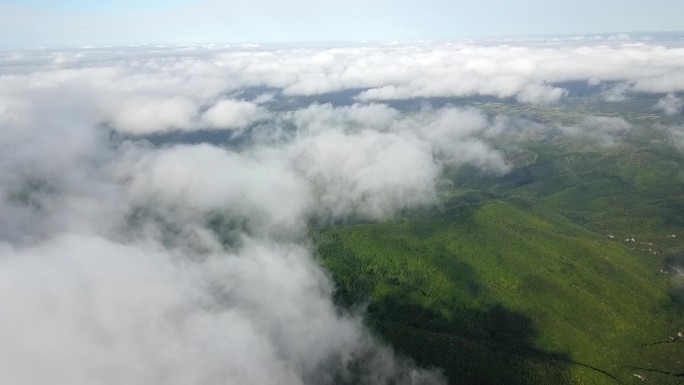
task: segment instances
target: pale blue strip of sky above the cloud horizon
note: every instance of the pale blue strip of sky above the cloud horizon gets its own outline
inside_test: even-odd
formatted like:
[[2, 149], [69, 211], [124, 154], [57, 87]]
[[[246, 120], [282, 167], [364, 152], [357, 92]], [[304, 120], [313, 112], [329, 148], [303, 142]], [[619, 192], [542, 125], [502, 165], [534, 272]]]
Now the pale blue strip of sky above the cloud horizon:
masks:
[[0, 47], [684, 30], [681, 0], [0, 0]]

